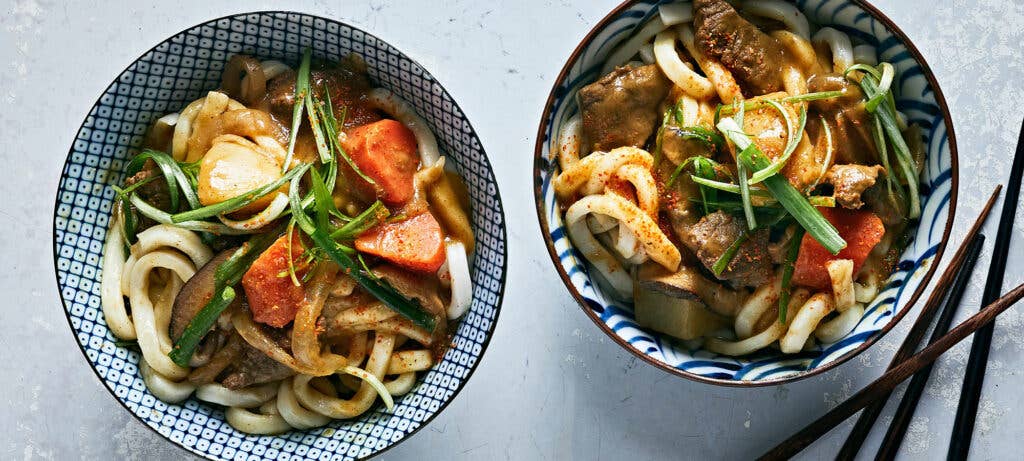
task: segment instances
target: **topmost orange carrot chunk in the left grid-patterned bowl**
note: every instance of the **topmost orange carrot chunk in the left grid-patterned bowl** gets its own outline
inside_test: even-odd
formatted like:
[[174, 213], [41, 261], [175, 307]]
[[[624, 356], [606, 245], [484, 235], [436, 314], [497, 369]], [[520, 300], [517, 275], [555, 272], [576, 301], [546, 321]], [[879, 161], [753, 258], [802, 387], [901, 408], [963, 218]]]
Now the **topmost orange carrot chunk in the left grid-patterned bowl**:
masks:
[[345, 177], [365, 199], [378, 198], [388, 206], [400, 206], [414, 195], [413, 175], [420, 164], [416, 135], [401, 122], [380, 120], [351, 130], [342, 146], [359, 170], [377, 187], [345, 166]]

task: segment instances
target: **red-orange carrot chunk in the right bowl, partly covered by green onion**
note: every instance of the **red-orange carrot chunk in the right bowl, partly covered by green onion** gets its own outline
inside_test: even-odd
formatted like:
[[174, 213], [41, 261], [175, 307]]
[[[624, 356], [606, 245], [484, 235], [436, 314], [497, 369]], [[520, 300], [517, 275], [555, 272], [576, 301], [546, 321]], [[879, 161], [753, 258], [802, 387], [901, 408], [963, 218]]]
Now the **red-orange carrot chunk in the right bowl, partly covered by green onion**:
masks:
[[800, 254], [793, 271], [794, 285], [827, 290], [831, 280], [825, 269], [825, 263], [836, 259], [852, 259], [853, 273], [857, 274], [871, 249], [882, 241], [886, 233], [882, 219], [874, 213], [864, 210], [847, 210], [838, 208], [818, 208], [828, 222], [839, 230], [846, 240], [847, 246], [833, 255], [810, 235], [805, 234], [800, 242]]

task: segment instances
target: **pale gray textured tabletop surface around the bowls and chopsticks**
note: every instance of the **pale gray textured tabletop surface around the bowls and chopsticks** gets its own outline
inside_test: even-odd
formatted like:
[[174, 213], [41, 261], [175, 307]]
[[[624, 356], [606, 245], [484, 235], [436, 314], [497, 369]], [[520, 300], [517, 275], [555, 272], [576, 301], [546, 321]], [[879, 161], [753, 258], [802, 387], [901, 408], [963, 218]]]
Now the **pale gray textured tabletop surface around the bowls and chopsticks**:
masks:
[[[909, 321], [823, 376], [761, 389], [712, 387], [638, 363], [580, 311], [544, 251], [530, 192], [538, 118], [577, 42], [615, 0], [82, 2], [0, 4], [0, 458], [176, 459], [184, 452], [133, 419], [89, 370], [60, 308], [51, 213], [60, 168], [96, 96], [164, 38], [227, 13], [295, 9], [367, 29], [422, 62], [459, 101], [497, 170], [509, 230], [509, 281], [485, 359], [456, 401], [387, 459], [750, 458], [881, 374]], [[952, 108], [961, 150], [953, 242], [1006, 180], [1020, 126], [1024, 3], [879, 1], [910, 36]], [[1024, 235], [1018, 209], [1016, 235]], [[994, 222], [987, 230], [994, 237]], [[1007, 286], [1024, 280], [1011, 247]], [[984, 253], [987, 261], [988, 250]], [[981, 267], [986, 265], [985, 262]], [[980, 273], [983, 273], [983, 268]], [[976, 276], [959, 319], [977, 308]], [[539, 297], [539, 293], [545, 296]], [[912, 319], [913, 313], [908, 319]], [[1020, 458], [1024, 312], [999, 320], [973, 446]], [[942, 358], [910, 426], [905, 459], [944, 457], [969, 346]], [[890, 406], [882, 422], [891, 419]], [[808, 459], [835, 453], [851, 423]], [[881, 436], [872, 434], [873, 449]]]

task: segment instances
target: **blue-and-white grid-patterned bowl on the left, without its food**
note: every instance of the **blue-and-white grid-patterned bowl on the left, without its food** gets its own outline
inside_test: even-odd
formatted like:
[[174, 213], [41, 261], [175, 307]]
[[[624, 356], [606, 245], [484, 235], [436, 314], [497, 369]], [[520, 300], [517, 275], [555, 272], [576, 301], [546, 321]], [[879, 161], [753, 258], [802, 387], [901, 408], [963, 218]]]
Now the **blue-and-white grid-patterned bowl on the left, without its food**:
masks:
[[[220, 408], [196, 400], [167, 405], [151, 394], [139, 354], [118, 347], [100, 310], [104, 235], [114, 199], [109, 184], [124, 179], [126, 162], [147, 126], [214, 89], [227, 58], [245, 52], [297, 65], [312, 46], [319, 57], [354, 52], [372, 80], [412, 102], [441, 151], [466, 179], [477, 250], [473, 304], [452, 348], [423, 374], [392, 412], [377, 405], [362, 417], [280, 436], [247, 435], [224, 423]], [[422, 428], [463, 388], [483, 355], [505, 289], [505, 216], [480, 141], [459, 106], [416, 61], [356, 28], [291, 12], [238, 14], [189, 28], [132, 62], [99, 96], [79, 129], [56, 194], [53, 252], [68, 322], [82, 352], [111, 393], [167, 439], [209, 459], [350, 460], [392, 447]]]

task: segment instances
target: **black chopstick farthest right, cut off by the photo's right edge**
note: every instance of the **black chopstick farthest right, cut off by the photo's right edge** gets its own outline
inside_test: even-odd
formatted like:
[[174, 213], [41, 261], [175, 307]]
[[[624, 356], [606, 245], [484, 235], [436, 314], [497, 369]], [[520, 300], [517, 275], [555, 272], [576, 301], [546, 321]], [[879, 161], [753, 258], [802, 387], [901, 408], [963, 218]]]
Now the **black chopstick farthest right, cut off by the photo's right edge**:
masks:
[[[999, 296], [1002, 291], [1002, 276], [1007, 269], [1007, 253], [1010, 252], [1010, 239], [1013, 235], [1014, 214], [1017, 212], [1017, 202], [1020, 199], [1021, 176], [1024, 175], [1024, 123], [1017, 138], [1017, 153], [1010, 168], [1010, 181], [1007, 182], [1007, 197], [1002, 202], [1002, 214], [999, 217], [999, 230], [995, 235], [995, 245], [992, 249], [992, 261], [988, 266], [988, 280], [985, 281], [985, 291], [981, 296], [981, 305], [986, 305]], [[953, 420], [953, 431], [949, 437], [948, 460], [967, 459], [971, 451], [971, 438], [974, 435], [974, 422], [978, 416], [978, 401], [981, 399], [981, 387], [985, 381], [985, 368], [988, 366], [988, 349], [992, 344], [992, 331], [995, 324], [985, 326], [978, 331], [971, 344], [971, 357], [964, 374], [964, 385], [961, 387], [959, 404], [956, 407], [956, 418]]]

